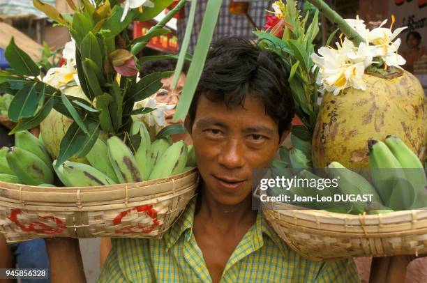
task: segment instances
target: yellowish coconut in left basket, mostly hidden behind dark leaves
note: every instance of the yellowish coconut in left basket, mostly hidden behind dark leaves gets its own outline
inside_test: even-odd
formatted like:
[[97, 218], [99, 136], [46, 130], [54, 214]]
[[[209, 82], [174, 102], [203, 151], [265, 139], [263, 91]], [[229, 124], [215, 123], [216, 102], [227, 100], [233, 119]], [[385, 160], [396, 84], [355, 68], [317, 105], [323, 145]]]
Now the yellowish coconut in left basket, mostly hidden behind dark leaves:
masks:
[[[70, 86], [65, 90], [66, 95], [87, 100], [80, 86]], [[68, 130], [73, 120], [52, 109], [49, 115], [40, 123], [40, 134], [47, 152], [52, 159], [57, 159], [61, 139]], [[74, 162], [87, 163], [86, 158], [70, 158]]]

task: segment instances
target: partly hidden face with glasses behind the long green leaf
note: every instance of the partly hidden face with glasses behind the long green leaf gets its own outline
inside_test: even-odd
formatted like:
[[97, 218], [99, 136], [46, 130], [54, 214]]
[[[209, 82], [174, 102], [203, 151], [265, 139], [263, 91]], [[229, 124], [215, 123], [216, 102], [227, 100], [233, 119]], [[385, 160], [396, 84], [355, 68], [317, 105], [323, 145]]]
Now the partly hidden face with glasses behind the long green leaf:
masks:
[[[177, 87], [172, 90], [172, 82], [174, 81], [174, 76], [166, 77], [161, 80], [163, 86], [156, 94], [156, 101], [158, 103], [166, 103], [166, 104], [178, 104], [179, 96], [181, 95], [181, 91], [183, 88], [183, 84], [186, 81], [186, 75], [181, 73], [178, 79]], [[175, 107], [176, 108], [176, 107]], [[172, 118], [175, 113], [175, 108], [166, 112], [166, 122], [168, 124], [172, 123]]]

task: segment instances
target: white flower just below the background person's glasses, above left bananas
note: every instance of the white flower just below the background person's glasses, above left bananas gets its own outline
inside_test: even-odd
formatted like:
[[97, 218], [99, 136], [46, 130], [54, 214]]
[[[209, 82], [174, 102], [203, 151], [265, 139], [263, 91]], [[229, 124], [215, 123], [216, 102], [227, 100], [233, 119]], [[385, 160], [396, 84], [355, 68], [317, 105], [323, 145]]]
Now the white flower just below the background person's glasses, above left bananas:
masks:
[[147, 114], [135, 115], [136, 118], [143, 121], [149, 127], [156, 127], [156, 134], [167, 125], [165, 119], [165, 112], [174, 109], [175, 105], [168, 105], [166, 103], [157, 103], [155, 98], [146, 98], [140, 102], [136, 102], [133, 109], [140, 109], [142, 107], [156, 108]]

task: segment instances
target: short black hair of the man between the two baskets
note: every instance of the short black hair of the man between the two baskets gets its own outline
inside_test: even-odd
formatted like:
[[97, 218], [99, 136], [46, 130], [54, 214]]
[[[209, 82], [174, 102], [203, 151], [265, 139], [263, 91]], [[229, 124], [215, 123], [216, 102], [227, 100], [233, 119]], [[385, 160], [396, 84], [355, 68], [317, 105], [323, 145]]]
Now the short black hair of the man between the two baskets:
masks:
[[279, 135], [289, 130], [294, 101], [287, 79], [289, 69], [277, 54], [244, 38], [226, 37], [211, 45], [189, 109], [195, 121], [197, 102], [204, 95], [229, 108], [243, 106], [246, 95], [260, 100], [267, 115], [278, 123]]

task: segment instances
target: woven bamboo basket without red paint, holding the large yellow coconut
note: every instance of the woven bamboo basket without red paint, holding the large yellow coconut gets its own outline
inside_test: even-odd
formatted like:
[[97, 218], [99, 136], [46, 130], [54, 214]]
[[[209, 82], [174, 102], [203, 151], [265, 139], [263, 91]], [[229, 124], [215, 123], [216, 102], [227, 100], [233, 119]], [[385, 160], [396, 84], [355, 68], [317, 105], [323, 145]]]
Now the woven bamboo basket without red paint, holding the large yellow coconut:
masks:
[[278, 236], [313, 261], [427, 252], [427, 208], [349, 215], [282, 203], [262, 207]]

